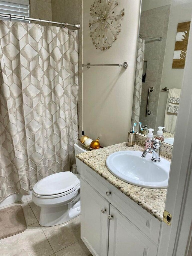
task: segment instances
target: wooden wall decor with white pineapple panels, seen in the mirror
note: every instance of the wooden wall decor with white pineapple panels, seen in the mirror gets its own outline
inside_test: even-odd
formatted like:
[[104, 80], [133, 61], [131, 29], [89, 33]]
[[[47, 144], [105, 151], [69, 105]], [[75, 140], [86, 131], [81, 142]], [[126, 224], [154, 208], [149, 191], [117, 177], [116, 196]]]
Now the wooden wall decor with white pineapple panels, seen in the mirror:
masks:
[[172, 68], [184, 68], [187, 54], [190, 21], [178, 23]]

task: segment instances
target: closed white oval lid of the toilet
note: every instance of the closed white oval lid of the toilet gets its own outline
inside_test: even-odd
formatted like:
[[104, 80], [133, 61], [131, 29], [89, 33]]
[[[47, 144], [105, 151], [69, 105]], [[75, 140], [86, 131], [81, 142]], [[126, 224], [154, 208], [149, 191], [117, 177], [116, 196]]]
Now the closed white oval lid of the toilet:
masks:
[[54, 173], [38, 181], [33, 191], [39, 195], [55, 195], [74, 188], [79, 182], [72, 172]]

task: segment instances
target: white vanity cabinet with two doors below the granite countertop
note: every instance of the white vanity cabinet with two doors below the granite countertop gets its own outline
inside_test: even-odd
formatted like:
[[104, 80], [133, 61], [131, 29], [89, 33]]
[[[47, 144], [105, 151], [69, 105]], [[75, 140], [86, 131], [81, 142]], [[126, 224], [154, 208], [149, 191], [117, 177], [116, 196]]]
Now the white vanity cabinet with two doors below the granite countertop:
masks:
[[156, 256], [161, 221], [82, 163], [81, 239], [93, 256]]

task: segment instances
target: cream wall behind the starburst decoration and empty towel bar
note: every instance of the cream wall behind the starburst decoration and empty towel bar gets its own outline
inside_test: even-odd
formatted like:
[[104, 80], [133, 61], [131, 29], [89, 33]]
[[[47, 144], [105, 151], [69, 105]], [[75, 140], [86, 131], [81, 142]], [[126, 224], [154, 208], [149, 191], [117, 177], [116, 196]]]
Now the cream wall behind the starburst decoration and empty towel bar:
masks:
[[101, 137], [102, 146], [124, 142], [131, 127], [140, 0], [121, 0], [125, 8], [122, 32], [106, 51], [96, 50], [88, 28], [93, 1], [83, 1], [83, 63], [117, 64], [119, 67], [83, 68], [83, 130], [92, 139]]

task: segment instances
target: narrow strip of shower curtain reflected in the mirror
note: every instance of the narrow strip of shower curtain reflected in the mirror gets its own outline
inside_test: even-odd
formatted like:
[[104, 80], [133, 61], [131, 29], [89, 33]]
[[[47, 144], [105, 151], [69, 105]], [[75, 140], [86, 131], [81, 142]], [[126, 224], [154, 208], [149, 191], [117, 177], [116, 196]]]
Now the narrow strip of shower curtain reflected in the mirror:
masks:
[[134, 123], [138, 124], [135, 128], [135, 131], [139, 131], [144, 52], [145, 52], [145, 40], [139, 38], [138, 48], [137, 48], [136, 72], [135, 72], [133, 114], [132, 114], [132, 122], [131, 122], [131, 127], [133, 127]]

